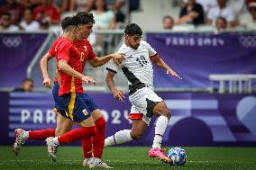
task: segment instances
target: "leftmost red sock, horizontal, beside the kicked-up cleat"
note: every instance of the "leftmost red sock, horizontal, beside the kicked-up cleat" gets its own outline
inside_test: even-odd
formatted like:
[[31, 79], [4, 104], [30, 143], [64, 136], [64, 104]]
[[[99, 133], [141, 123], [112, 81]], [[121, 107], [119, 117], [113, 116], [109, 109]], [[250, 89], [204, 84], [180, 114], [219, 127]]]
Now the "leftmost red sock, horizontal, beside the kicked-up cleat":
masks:
[[29, 139], [44, 140], [48, 137], [55, 137], [55, 130], [33, 130], [29, 131]]

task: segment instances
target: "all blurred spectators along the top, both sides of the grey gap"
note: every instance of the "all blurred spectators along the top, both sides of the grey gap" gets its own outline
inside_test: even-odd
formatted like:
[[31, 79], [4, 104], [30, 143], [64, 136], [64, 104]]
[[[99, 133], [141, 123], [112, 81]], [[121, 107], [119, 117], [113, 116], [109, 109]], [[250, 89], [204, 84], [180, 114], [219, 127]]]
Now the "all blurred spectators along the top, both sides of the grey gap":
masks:
[[[217, 29], [256, 28], [256, 0], [170, 0], [178, 18], [162, 18], [163, 29], [175, 25], [211, 25]], [[130, 13], [142, 10], [140, 0], [0, 0], [0, 31], [49, 30], [70, 13], [86, 11], [95, 29], [122, 29]]]

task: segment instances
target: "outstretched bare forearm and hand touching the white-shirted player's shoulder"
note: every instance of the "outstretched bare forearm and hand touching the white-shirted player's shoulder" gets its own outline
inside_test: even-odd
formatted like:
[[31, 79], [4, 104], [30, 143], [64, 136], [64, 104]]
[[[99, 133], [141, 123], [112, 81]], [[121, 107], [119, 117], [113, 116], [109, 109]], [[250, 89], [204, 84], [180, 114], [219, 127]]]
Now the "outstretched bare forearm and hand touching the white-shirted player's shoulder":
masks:
[[107, 63], [112, 58], [115, 64], [119, 65], [123, 61], [123, 59], [125, 59], [125, 55], [123, 53], [109, 54], [101, 58], [92, 58], [89, 60], [89, 63], [92, 67], [100, 67], [105, 65], [105, 63]]

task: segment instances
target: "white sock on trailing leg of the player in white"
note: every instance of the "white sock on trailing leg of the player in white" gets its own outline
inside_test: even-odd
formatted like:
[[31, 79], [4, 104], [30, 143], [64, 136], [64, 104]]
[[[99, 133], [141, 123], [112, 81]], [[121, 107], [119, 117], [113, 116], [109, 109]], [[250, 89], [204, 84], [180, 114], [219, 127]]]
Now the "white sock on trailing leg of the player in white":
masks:
[[114, 133], [114, 135], [105, 139], [105, 146], [104, 147], [114, 146], [114, 145], [118, 145], [118, 144], [122, 144], [122, 143], [132, 141], [133, 139], [131, 138], [130, 131], [131, 130], [117, 131], [116, 133]]

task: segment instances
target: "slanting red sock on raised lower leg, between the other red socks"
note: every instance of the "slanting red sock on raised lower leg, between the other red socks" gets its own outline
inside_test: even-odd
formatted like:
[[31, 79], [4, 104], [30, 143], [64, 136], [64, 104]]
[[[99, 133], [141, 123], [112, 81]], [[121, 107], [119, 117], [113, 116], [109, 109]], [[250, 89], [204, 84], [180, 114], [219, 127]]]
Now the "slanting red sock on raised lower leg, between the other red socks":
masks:
[[96, 134], [96, 126], [83, 127], [76, 130], [71, 130], [64, 135], [59, 136], [59, 144], [72, 143], [81, 139], [92, 137]]

